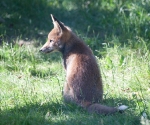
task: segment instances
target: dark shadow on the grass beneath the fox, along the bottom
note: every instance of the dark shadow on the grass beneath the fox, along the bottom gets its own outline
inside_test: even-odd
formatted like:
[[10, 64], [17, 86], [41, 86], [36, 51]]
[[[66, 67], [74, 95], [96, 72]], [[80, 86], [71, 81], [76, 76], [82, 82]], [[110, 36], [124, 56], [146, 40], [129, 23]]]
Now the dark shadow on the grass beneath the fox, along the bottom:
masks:
[[[121, 102], [130, 102], [126, 99], [119, 99]], [[116, 101], [107, 99], [107, 102]], [[118, 101], [118, 100], [117, 100]], [[107, 104], [106, 104], [107, 105]], [[133, 104], [134, 105], [134, 104]], [[129, 108], [134, 108], [131, 106]], [[117, 124], [117, 125], [140, 125], [140, 117], [134, 111], [126, 110], [124, 113], [114, 115], [88, 114], [76, 105], [64, 104], [63, 102], [48, 102], [44, 104], [29, 103], [23, 107], [15, 107], [11, 110], [0, 112], [1, 125], [66, 125], [66, 124]]]

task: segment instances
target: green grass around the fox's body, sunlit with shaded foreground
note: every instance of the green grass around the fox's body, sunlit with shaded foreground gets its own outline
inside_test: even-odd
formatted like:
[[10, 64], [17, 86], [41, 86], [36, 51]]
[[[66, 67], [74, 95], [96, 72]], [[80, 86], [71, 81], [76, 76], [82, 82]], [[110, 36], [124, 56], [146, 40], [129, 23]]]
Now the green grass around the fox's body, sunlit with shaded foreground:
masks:
[[[91, 115], [75, 105], [65, 104], [61, 95], [65, 82], [61, 55], [43, 55], [33, 45], [8, 44], [0, 48], [1, 125], [150, 123], [149, 50], [107, 44], [104, 49], [105, 54], [97, 57], [104, 81], [103, 104], [128, 105], [123, 114]], [[143, 113], [147, 115], [144, 120]]]

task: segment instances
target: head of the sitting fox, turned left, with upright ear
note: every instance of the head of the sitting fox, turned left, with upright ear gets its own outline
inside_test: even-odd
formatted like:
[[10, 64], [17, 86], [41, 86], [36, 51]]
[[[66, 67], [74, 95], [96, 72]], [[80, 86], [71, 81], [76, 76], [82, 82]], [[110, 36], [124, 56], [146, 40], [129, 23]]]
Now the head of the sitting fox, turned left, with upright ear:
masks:
[[70, 38], [70, 28], [65, 26], [62, 22], [58, 21], [52, 14], [51, 18], [54, 28], [48, 34], [47, 42], [40, 49], [41, 52], [49, 53], [52, 51], [61, 51], [65, 43]]

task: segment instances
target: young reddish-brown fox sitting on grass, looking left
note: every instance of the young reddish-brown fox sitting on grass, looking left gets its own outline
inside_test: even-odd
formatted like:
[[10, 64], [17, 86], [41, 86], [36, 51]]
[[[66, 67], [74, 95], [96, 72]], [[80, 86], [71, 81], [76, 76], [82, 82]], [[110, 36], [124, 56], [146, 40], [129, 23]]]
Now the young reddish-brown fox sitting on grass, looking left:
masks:
[[99, 104], [103, 96], [100, 70], [91, 49], [72, 30], [52, 14], [54, 28], [40, 49], [50, 53], [59, 51], [63, 56], [66, 83], [63, 89], [65, 102], [75, 103], [90, 113], [112, 114], [123, 111], [127, 106], [108, 107]]

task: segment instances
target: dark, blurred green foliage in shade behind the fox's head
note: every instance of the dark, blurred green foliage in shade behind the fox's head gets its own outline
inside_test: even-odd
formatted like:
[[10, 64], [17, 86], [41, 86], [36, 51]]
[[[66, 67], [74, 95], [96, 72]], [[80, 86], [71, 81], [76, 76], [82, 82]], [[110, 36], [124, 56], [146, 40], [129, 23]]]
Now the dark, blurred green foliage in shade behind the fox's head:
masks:
[[150, 39], [149, 0], [1, 0], [0, 41], [45, 42], [53, 27], [51, 13], [83, 39], [88, 37], [93, 49], [114, 36], [123, 44]]

